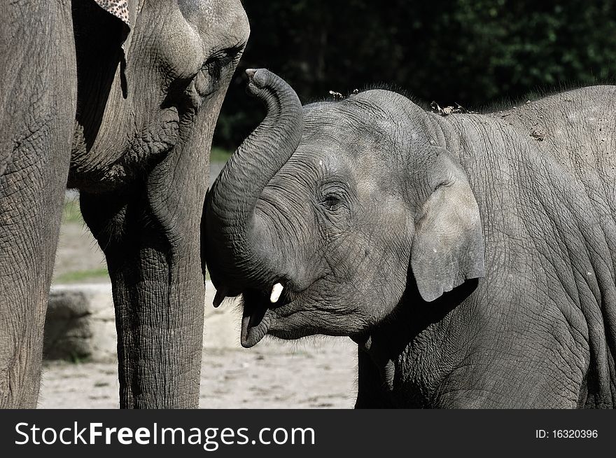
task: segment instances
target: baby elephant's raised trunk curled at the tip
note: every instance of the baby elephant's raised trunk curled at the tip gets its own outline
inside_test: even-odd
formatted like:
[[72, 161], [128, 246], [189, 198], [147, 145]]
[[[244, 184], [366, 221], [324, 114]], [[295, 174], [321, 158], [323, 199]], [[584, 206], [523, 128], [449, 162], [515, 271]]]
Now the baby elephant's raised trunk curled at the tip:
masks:
[[[302, 104], [295, 91], [265, 69], [247, 70], [248, 93], [267, 105], [267, 116], [237, 148], [206, 197], [202, 256], [214, 285], [236, 296], [243, 278], [254, 283], [268, 269], [258, 255], [255, 207], [263, 188], [300, 144]], [[250, 266], [250, 268], [248, 268]], [[237, 291], [224, 291], [222, 282]]]

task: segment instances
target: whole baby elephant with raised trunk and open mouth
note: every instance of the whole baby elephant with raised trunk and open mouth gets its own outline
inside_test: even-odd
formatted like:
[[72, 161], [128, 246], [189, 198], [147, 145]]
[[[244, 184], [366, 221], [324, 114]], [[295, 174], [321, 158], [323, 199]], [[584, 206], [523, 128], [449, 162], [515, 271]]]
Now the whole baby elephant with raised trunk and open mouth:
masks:
[[244, 347], [351, 337], [356, 407], [615, 406], [615, 86], [441, 116], [248, 76], [267, 116], [202, 225]]

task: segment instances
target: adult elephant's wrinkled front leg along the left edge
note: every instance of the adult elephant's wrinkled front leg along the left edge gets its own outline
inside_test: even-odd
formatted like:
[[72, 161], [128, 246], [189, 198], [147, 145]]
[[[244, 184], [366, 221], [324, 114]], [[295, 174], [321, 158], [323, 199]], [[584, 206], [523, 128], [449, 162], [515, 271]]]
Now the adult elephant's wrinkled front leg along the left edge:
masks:
[[11, 18], [0, 31], [0, 408], [34, 408], [69, 170], [75, 51], [70, 2], [7, 2], [0, 14]]

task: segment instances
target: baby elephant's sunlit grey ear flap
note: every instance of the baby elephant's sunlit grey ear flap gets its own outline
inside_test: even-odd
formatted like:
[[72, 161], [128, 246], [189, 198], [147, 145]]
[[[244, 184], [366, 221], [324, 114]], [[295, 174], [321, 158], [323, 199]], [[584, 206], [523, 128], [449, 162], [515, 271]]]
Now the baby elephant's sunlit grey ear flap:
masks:
[[466, 279], [485, 276], [477, 200], [462, 167], [442, 150], [428, 172], [431, 193], [417, 215], [411, 268], [428, 302]]

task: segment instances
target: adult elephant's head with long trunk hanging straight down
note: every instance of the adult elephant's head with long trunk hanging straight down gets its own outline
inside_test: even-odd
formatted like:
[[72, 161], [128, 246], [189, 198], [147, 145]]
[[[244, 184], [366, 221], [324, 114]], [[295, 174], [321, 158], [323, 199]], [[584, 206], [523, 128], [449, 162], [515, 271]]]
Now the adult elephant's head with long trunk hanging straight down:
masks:
[[109, 266], [120, 401], [195, 407], [209, 148], [248, 21], [239, 0], [73, 1], [72, 20], [68, 186]]

